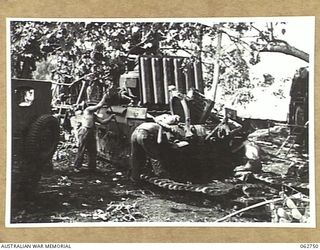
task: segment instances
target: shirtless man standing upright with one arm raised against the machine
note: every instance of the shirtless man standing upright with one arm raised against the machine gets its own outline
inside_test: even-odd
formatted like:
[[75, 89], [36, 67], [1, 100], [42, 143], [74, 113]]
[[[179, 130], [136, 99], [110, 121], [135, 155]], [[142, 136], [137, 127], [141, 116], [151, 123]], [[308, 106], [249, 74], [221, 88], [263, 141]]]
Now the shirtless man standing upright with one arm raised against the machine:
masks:
[[79, 147], [74, 167], [76, 169], [81, 168], [85, 150], [88, 152], [88, 167], [90, 171], [96, 169], [96, 156], [97, 156], [97, 142], [95, 135], [95, 122], [101, 124], [108, 123], [115, 115], [111, 115], [106, 119], [101, 119], [95, 112], [100, 109], [107, 101], [109, 95], [106, 93], [103, 95], [101, 101], [94, 105], [86, 107], [82, 114], [81, 127], [78, 130]]

